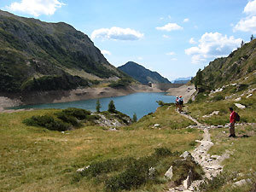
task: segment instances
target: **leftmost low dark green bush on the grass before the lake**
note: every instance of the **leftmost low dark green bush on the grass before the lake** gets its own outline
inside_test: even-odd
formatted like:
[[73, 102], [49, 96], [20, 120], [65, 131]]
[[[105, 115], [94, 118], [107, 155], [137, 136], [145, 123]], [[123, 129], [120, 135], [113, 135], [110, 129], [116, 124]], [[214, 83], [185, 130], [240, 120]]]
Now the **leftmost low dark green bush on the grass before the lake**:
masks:
[[70, 128], [70, 125], [63, 123], [61, 120], [54, 119], [49, 115], [32, 116], [30, 119], [25, 119], [23, 123], [31, 126], [42, 126], [50, 131], [67, 131]]

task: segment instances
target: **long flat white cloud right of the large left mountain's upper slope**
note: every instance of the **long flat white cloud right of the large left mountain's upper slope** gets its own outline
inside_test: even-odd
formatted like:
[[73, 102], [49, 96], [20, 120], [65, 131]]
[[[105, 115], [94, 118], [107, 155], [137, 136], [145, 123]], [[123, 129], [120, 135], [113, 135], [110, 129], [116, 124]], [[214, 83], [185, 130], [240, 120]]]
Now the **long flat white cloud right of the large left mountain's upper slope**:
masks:
[[92, 39], [114, 39], [114, 40], [138, 40], [143, 38], [144, 34], [130, 28], [120, 28], [113, 26], [111, 28], [101, 28], [93, 31], [90, 35]]

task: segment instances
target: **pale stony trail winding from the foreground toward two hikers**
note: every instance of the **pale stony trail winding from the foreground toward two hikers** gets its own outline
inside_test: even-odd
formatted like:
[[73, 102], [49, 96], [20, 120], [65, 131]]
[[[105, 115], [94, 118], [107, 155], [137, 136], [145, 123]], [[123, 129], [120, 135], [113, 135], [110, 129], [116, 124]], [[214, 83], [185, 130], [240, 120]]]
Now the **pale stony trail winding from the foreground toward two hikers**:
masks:
[[188, 114], [181, 113], [184, 117], [193, 120], [197, 124], [197, 128], [204, 131], [203, 138], [201, 141], [195, 140], [195, 142], [200, 143], [199, 146], [197, 146], [194, 151], [191, 152], [192, 157], [195, 159], [195, 161], [201, 165], [202, 169], [205, 172], [205, 175], [203, 177], [203, 180], [195, 180], [191, 183], [191, 185], [188, 188], [185, 188], [185, 186], [182, 184], [180, 186], [177, 186], [175, 188], [169, 189], [170, 192], [177, 192], [177, 191], [195, 191], [195, 189], [200, 185], [201, 182], [204, 181], [204, 179], [208, 178], [211, 179], [212, 177], [215, 177], [220, 173], [223, 169], [223, 166], [221, 166], [221, 162], [229, 158], [229, 154], [225, 153], [221, 156], [219, 155], [210, 155], [208, 154], [208, 150], [214, 145], [211, 140], [211, 135], [209, 133], [209, 130], [211, 129], [211, 126], [207, 125], [201, 125], [196, 119], [193, 119]]

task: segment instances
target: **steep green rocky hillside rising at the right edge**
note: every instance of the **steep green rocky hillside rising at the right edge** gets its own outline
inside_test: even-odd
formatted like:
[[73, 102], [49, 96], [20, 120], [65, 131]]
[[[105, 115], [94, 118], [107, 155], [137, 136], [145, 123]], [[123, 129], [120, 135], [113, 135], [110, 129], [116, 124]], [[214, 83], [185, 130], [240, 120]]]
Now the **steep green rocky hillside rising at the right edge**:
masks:
[[[229, 56], [210, 62], [202, 71], [197, 72], [192, 81], [207, 86], [207, 89], [216, 89], [238, 79], [253, 76], [254, 70], [256, 70], [256, 39], [234, 50]], [[250, 79], [253, 81], [253, 78]]]

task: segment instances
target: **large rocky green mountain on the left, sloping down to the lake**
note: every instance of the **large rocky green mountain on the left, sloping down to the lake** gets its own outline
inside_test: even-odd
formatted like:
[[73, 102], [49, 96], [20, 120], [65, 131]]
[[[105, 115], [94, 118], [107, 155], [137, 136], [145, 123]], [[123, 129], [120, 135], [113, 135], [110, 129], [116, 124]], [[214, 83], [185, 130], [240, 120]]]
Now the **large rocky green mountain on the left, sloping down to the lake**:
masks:
[[71, 90], [125, 79], [83, 32], [0, 10], [0, 92]]

